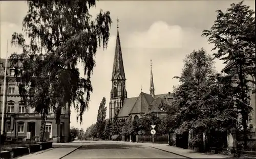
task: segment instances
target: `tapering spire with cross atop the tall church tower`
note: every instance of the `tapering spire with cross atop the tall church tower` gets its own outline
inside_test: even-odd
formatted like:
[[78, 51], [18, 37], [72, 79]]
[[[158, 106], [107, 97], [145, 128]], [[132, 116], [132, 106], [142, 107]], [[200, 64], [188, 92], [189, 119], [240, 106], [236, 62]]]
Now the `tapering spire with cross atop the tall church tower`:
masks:
[[118, 22], [119, 19], [117, 18], [117, 37], [116, 37], [116, 50], [115, 50], [115, 57], [114, 57], [114, 64], [113, 64], [113, 71], [112, 71], [112, 80], [125, 80], [124, 68], [123, 68], [123, 58], [122, 58], [122, 51], [121, 51], [121, 43], [118, 31]]

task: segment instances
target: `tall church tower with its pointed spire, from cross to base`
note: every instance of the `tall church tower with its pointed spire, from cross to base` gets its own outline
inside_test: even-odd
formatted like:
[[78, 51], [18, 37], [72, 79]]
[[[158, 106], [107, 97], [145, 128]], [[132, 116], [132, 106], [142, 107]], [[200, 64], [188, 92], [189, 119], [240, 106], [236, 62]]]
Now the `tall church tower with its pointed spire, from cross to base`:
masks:
[[123, 107], [123, 100], [127, 98], [125, 80], [117, 19], [116, 49], [112, 70], [112, 89], [110, 92], [110, 120], [114, 118], [115, 112], [119, 111]]

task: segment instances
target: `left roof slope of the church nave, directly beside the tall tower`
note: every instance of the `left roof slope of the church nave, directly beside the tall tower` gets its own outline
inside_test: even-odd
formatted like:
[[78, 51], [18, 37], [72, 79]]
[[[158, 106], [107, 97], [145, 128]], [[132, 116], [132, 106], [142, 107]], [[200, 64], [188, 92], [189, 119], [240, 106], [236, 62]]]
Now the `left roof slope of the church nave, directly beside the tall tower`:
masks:
[[123, 107], [121, 108], [118, 117], [126, 117], [129, 116], [134, 103], [136, 102], [138, 97], [126, 98], [123, 100]]

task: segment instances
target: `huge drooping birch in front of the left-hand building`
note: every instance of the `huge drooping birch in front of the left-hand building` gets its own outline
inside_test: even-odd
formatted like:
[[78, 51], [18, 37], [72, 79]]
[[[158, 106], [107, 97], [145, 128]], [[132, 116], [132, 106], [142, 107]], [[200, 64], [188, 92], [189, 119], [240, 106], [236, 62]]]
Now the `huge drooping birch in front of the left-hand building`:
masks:
[[[23, 34], [13, 33], [12, 45], [23, 49], [12, 54], [11, 67], [25, 107], [41, 114], [39, 139], [44, 139], [48, 111], [53, 109], [56, 123], [61, 107], [74, 106], [77, 121], [88, 109], [92, 93], [91, 74], [98, 46], [109, 41], [110, 12], [102, 12], [91, 20], [89, 13], [95, 1], [27, 1], [28, 12], [23, 20]], [[80, 77], [78, 62], [83, 64]], [[19, 65], [21, 63], [22, 65]], [[18, 69], [21, 66], [21, 69]]]

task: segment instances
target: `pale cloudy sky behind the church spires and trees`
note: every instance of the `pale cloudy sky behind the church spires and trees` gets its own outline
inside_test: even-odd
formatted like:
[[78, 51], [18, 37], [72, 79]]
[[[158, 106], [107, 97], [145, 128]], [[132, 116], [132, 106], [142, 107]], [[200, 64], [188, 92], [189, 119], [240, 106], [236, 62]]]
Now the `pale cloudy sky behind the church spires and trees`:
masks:
[[[210, 29], [216, 20], [216, 10], [226, 11], [231, 3], [240, 1], [99, 1], [90, 13], [96, 15], [100, 9], [110, 11], [113, 20], [108, 48], [99, 48], [96, 54], [96, 67], [91, 78], [93, 93], [90, 107], [83, 115], [80, 125], [72, 108], [71, 126], [86, 129], [96, 123], [99, 104], [106, 98], [106, 117], [109, 118], [109, 102], [112, 67], [115, 53], [117, 21], [122, 48], [126, 90], [128, 97], [136, 97], [141, 89], [150, 93], [150, 60], [153, 62], [155, 94], [173, 92], [179, 84], [173, 79], [179, 76], [183, 59], [194, 49], [204, 48], [212, 54], [211, 44], [202, 37], [202, 31]], [[1, 1], [1, 58], [6, 58], [18, 48], [10, 47], [11, 35], [22, 33], [22, 21], [28, 7], [25, 1]], [[255, 2], [244, 4], [255, 10]], [[215, 60], [218, 72], [225, 67], [223, 61]], [[82, 65], [79, 70], [83, 74]]]

